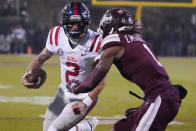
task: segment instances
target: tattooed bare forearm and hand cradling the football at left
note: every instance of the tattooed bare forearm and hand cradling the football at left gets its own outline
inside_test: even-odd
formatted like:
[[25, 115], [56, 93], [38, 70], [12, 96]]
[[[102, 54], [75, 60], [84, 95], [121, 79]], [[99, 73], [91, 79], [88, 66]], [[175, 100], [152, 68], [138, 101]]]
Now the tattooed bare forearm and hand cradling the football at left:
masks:
[[34, 68], [41, 68], [41, 66], [43, 65], [43, 63], [48, 60], [53, 54], [47, 50], [46, 48], [44, 48], [42, 50], [42, 52], [30, 63], [29, 67], [27, 68], [26, 73], [23, 75], [22, 77], [22, 84], [25, 87], [30, 87], [33, 86], [34, 83], [29, 83], [26, 79], [27, 75], [29, 74], [29, 70], [32, 70]]

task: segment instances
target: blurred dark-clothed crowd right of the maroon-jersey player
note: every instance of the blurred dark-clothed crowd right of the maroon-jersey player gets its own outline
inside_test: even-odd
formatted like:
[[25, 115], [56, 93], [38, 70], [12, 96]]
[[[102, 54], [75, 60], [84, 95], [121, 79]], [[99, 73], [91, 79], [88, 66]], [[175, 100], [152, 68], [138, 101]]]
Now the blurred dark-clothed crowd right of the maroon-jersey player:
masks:
[[159, 56], [196, 56], [196, 24], [184, 30], [184, 23], [165, 23], [158, 36], [150, 25], [145, 27], [144, 39]]

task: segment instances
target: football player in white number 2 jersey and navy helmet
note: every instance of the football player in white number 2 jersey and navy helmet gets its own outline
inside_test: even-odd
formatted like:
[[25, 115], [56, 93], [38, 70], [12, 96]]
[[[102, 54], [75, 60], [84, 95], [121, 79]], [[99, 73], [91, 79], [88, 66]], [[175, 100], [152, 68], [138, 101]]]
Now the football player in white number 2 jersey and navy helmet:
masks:
[[[22, 78], [22, 83], [28, 88], [32, 87], [33, 83], [26, 80], [28, 71], [41, 67], [53, 54], [58, 55], [62, 83], [46, 111], [43, 131], [94, 131], [98, 123], [95, 117], [90, 118], [87, 122], [77, 123], [96, 104], [96, 96], [103, 89], [105, 80], [90, 93], [75, 95], [70, 91], [88, 76], [99, 59], [102, 47], [101, 36], [88, 29], [89, 10], [81, 2], [66, 4], [62, 10], [60, 22], [61, 26], [53, 27], [50, 30], [46, 47], [29, 65], [27, 73]], [[76, 102], [82, 102], [79, 104], [87, 107], [84, 112], [77, 115], [72, 110]]]

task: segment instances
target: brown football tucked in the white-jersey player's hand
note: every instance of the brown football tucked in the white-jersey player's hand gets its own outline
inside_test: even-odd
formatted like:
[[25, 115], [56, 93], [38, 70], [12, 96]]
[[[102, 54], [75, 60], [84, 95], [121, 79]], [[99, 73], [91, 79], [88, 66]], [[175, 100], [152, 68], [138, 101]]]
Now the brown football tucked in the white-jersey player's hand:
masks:
[[47, 74], [43, 69], [34, 68], [30, 70], [28, 72], [28, 75], [26, 76], [26, 79], [28, 82], [34, 83], [34, 85], [28, 88], [40, 88], [46, 81], [46, 78], [47, 78]]

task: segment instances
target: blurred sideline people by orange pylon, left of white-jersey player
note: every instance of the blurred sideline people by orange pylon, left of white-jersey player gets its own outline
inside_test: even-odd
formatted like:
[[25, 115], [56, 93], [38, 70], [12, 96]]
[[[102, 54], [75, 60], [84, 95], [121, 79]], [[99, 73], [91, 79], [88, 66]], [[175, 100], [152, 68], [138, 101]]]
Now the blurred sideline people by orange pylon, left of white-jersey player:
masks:
[[39, 53], [45, 46], [47, 33], [44, 28], [36, 29], [20, 22], [10, 24], [10, 29], [0, 34], [0, 53]]

